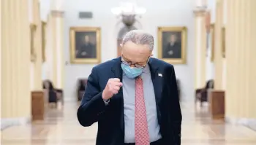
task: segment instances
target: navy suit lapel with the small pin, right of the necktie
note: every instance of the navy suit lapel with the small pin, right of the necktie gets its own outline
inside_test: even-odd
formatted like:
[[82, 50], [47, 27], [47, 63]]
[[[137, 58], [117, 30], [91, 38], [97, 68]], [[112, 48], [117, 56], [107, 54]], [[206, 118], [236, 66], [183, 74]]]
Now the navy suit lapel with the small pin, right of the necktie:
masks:
[[161, 122], [161, 111], [159, 109], [161, 98], [162, 98], [162, 72], [159, 72], [159, 66], [156, 64], [154, 58], [150, 58], [148, 61], [150, 72], [151, 72], [151, 79], [154, 86], [154, 95], [156, 98], [156, 106], [157, 106], [157, 118], [159, 123]]

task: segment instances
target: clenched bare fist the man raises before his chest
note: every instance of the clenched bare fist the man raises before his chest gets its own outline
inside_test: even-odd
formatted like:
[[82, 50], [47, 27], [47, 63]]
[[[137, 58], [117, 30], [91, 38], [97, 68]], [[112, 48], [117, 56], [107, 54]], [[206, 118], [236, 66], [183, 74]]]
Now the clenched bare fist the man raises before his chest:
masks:
[[102, 92], [102, 98], [104, 100], [112, 98], [114, 94], [118, 93], [122, 85], [118, 78], [108, 79], [108, 83]]

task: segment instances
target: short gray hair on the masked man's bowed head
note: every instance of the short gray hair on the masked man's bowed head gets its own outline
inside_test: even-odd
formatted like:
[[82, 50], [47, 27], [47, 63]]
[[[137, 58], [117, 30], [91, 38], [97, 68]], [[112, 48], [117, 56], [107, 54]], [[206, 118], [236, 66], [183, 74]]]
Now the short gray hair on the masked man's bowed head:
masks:
[[122, 44], [124, 45], [129, 41], [135, 44], [147, 44], [149, 50], [154, 49], [154, 37], [141, 30], [132, 30], [125, 34]]

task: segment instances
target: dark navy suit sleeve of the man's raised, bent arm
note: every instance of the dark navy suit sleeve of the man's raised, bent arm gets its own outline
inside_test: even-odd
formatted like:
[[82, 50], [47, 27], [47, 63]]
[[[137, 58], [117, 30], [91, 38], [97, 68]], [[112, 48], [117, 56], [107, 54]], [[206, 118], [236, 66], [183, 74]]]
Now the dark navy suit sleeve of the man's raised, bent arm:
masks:
[[94, 122], [97, 122], [100, 114], [105, 111], [106, 105], [102, 99], [102, 91], [100, 91], [98, 79], [97, 70], [92, 68], [86, 91], [77, 113], [78, 121], [84, 127], [91, 126]]

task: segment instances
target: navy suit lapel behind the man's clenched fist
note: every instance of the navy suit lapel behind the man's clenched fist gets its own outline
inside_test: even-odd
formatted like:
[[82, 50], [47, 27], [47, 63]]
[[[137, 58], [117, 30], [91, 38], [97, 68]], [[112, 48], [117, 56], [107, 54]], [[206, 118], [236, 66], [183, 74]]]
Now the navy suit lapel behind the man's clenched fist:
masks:
[[[115, 63], [111, 70], [113, 71], [113, 74], [116, 78], [120, 79], [120, 82], [123, 82], [123, 71], [121, 69], [121, 57], [115, 59]], [[120, 128], [121, 132], [124, 136], [124, 98], [123, 98], [123, 87], [120, 88], [118, 94], [113, 96], [113, 99], [116, 101], [116, 104], [118, 104], [117, 111], [120, 111]]]

